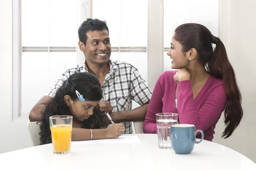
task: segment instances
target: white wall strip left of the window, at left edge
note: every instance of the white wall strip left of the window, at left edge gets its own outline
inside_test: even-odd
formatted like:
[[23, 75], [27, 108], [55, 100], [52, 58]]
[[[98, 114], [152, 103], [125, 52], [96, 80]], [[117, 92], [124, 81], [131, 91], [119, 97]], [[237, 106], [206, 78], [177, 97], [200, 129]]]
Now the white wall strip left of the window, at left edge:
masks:
[[28, 118], [12, 122], [12, 0], [0, 0], [0, 153], [32, 146]]

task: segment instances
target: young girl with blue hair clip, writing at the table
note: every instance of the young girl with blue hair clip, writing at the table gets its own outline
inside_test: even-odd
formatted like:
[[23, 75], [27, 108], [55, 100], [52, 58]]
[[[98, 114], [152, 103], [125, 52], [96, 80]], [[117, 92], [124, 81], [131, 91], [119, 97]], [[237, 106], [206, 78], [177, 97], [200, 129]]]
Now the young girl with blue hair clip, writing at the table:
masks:
[[41, 144], [52, 142], [49, 117], [55, 115], [73, 116], [72, 141], [116, 138], [122, 135], [125, 127], [121, 123], [99, 129], [106, 126], [99, 111], [101, 99], [102, 88], [96, 76], [90, 73], [72, 74], [63, 82], [42, 113], [39, 121]]

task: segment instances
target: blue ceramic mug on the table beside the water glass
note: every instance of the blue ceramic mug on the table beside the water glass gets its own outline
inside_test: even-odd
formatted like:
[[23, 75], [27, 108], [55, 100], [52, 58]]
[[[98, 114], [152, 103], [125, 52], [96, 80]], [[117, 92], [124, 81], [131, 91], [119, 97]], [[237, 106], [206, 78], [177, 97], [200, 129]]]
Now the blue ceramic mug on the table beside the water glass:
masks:
[[[195, 140], [195, 134], [200, 132], [202, 138], [200, 141]], [[204, 140], [204, 132], [195, 130], [195, 125], [177, 124], [171, 126], [171, 143], [172, 149], [178, 154], [189, 154], [198, 144]]]

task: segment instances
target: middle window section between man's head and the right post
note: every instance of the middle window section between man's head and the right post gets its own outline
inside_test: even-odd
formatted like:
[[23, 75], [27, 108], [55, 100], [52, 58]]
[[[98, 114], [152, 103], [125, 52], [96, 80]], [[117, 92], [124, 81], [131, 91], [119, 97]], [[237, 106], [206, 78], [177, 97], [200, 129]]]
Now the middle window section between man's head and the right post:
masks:
[[[147, 82], [147, 0], [93, 0], [92, 2], [92, 17], [107, 21], [112, 47], [111, 59], [131, 63]], [[131, 11], [140, 11], [140, 15]], [[133, 108], [137, 106], [139, 105], [133, 102]]]

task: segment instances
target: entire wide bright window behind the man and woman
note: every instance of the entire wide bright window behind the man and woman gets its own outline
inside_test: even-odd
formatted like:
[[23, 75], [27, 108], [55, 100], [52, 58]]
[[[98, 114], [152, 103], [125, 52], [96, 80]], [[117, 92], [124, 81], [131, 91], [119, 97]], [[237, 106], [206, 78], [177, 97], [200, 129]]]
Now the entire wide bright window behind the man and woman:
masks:
[[77, 48], [77, 30], [86, 18], [107, 21], [111, 59], [134, 65], [153, 89], [159, 75], [171, 70], [166, 53], [177, 26], [201, 23], [218, 36], [218, 3], [13, 0], [13, 117], [27, 117], [62, 72], [84, 62], [84, 54]]

